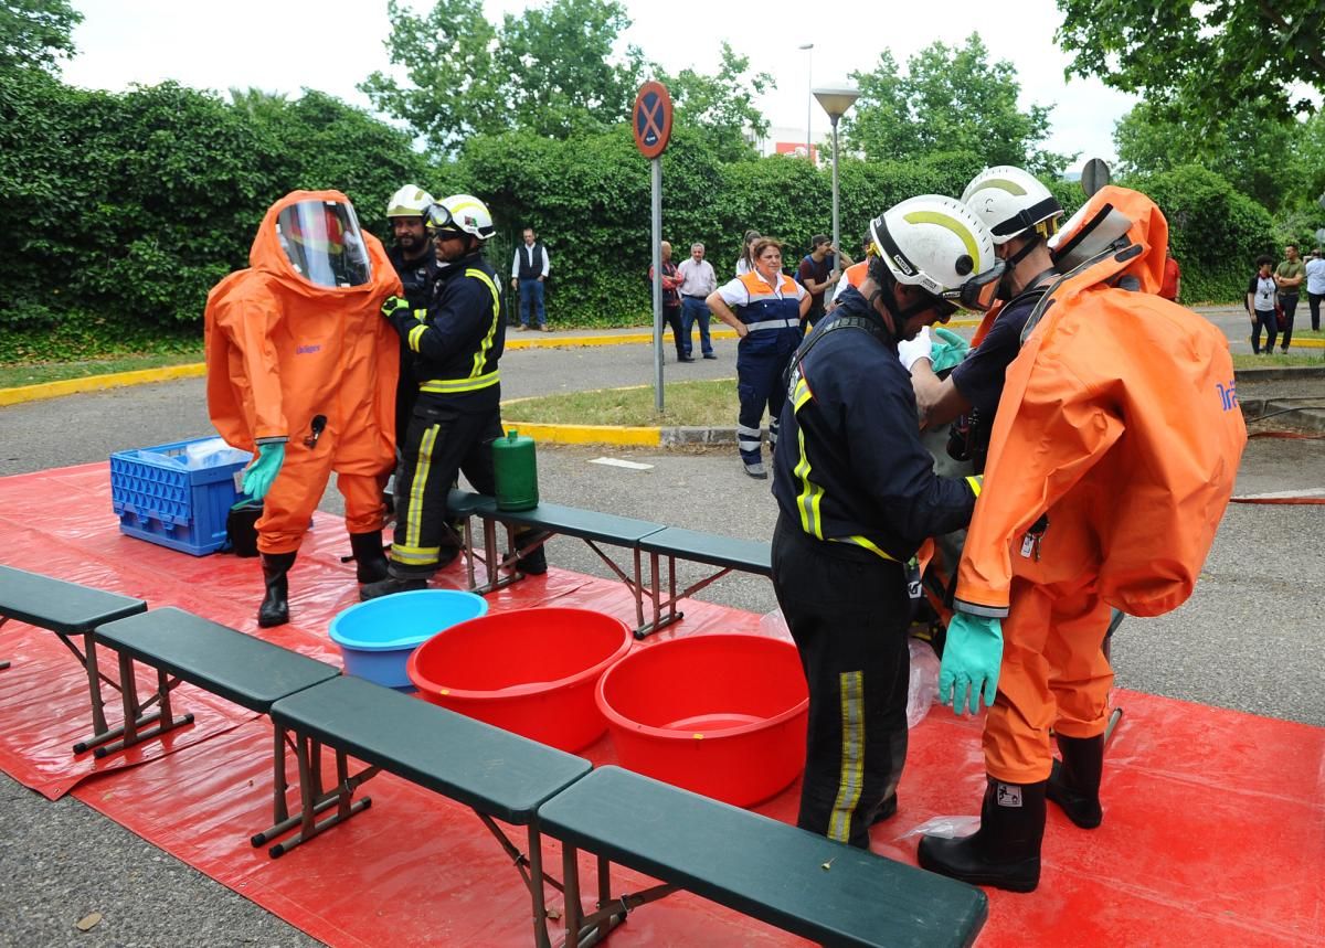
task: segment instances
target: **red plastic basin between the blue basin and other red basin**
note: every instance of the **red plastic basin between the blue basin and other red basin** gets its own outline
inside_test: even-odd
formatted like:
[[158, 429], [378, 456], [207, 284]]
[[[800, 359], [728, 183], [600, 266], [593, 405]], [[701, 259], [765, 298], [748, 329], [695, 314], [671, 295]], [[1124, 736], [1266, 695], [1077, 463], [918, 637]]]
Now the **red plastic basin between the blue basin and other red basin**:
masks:
[[519, 609], [460, 622], [409, 657], [433, 704], [563, 751], [598, 740], [599, 677], [631, 647], [631, 629], [588, 609]]

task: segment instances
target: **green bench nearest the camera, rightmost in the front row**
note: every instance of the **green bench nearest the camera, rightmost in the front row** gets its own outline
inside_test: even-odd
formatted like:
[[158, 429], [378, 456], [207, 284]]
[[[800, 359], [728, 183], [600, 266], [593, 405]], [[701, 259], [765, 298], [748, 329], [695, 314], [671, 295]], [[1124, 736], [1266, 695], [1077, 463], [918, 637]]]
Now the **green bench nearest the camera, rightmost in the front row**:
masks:
[[[824, 945], [970, 945], [988, 898], [933, 875], [649, 777], [602, 767], [538, 808], [562, 841], [566, 944], [596, 944], [628, 912], [684, 888]], [[576, 850], [598, 857], [584, 914]], [[611, 863], [660, 884], [612, 895]]]

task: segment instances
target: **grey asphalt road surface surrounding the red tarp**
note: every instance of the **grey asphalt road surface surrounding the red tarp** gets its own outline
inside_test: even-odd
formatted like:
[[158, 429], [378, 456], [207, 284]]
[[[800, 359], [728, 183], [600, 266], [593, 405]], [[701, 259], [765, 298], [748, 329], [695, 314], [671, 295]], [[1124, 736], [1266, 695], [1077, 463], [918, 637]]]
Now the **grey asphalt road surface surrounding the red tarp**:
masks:
[[[1214, 316], [1218, 322], [1219, 316]], [[1239, 331], [1239, 311], [1228, 315]], [[734, 375], [719, 359], [668, 363], [668, 377]], [[647, 346], [511, 352], [507, 397], [649, 384]], [[1318, 380], [1261, 383], [1264, 395], [1316, 395]], [[209, 434], [201, 380], [0, 408], [0, 474], [105, 461], [114, 450]], [[611, 457], [648, 465], [595, 463]], [[624, 450], [539, 445], [545, 499], [664, 523], [767, 539], [767, 482], [743, 475], [733, 449]], [[1240, 495], [1325, 487], [1325, 441], [1255, 440]], [[329, 491], [323, 508], [338, 510]], [[1113, 647], [1120, 686], [1325, 726], [1325, 530], [1320, 507], [1232, 504], [1191, 600], [1155, 620], [1126, 620]], [[1162, 538], [1157, 538], [1162, 542]], [[549, 544], [554, 565], [606, 575], [579, 542]], [[17, 564], [23, 565], [23, 564]], [[757, 613], [774, 608], [766, 580], [727, 577], [701, 593]], [[254, 608], [258, 589], [254, 588]], [[0, 945], [303, 945], [311, 939], [66, 797], [56, 804], [0, 777]], [[101, 923], [76, 923], [98, 911]]]

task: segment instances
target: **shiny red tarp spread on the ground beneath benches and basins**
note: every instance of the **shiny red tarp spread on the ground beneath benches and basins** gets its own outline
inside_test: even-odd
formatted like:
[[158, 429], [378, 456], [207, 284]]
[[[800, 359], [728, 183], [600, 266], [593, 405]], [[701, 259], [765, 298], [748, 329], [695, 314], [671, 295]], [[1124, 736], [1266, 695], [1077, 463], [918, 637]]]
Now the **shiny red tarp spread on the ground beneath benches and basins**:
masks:
[[[550, 548], [555, 563], [558, 540]], [[356, 601], [343, 526], [318, 514], [290, 573], [294, 621], [257, 629], [256, 560], [192, 557], [122, 536], [110, 512], [107, 465], [0, 478], [0, 561], [176, 605], [339, 663], [326, 637]], [[441, 581], [462, 588], [460, 565]], [[555, 602], [633, 624], [616, 583], [551, 569], [489, 597], [493, 612]], [[660, 633], [758, 632], [757, 616], [688, 602]], [[156, 846], [333, 945], [527, 945], [529, 895], [496, 841], [469, 810], [391, 775], [360, 793], [372, 808], [281, 859], [248, 837], [270, 822], [272, 728], [205, 692], [182, 686], [176, 708], [193, 726], [164, 745], [93, 763], [70, 753], [89, 731], [82, 669], [58, 638], [0, 628], [0, 767], [48, 797], [74, 794]], [[102, 667], [113, 673], [114, 667]], [[113, 665], [113, 663], [111, 663]], [[143, 681], [147, 681], [144, 675]], [[107, 715], [119, 719], [107, 690]], [[1040, 888], [990, 890], [980, 945], [1325, 943], [1325, 730], [1117, 691], [1126, 714], [1109, 749], [1104, 825], [1072, 826], [1049, 806]], [[604, 737], [584, 752], [615, 763]], [[142, 764], [142, 765], [131, 765]], [[90, 779], [89, 779], [90, 777]], [[876, 826], [873, 849], [914, 863], [909, 830], [935, 814], [978, 810], [983, 789], [979, 724], [935, 708], [912, 731], [901, 810]], [[799, 786], [757, 808], [794, 821]], [[523, 830], [513, 830], [523, 849]], [[546, 865], [559, 874], [555, 842]], [[591, 886], [590, 862], [582, 865]], [[648, 880], [615, 870], [617, 888]], [[550, 904], [559, 896], [550, 892]], [[677, 894], [635, 911], [611, 944], [803, 944], [721, 907]]]

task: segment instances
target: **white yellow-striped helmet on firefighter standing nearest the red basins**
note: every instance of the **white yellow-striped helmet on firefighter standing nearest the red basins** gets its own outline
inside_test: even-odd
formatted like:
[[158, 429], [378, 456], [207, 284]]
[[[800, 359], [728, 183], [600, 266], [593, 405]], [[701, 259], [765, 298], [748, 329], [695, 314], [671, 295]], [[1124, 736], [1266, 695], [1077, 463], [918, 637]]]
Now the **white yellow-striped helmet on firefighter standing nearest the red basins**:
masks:
[[969, 310], [994, 305], [1003, 261], [970, 208], [941, 195], [910, 197], [876, 217], [869, 234], [893, 279]]

